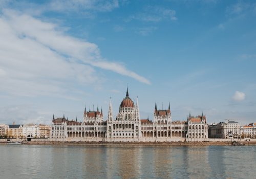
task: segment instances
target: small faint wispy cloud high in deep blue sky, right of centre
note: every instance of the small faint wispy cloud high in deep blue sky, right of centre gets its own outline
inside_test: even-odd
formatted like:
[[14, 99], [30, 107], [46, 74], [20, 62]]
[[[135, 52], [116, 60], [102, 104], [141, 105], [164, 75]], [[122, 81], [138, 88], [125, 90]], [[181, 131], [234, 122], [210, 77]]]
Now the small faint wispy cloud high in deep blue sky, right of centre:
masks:
[[126, 21], [141, 20], [147, 22], [159, 22], [162, 20], [177, 20], [176, 11], [163, 7], [148, 6], [142, 12], [130, 16]]

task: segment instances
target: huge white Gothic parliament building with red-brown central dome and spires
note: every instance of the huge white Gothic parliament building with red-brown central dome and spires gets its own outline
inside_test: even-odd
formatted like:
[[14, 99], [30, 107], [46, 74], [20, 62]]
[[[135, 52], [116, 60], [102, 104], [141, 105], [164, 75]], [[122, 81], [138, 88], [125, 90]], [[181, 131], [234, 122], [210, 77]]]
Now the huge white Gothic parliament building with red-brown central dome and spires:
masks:
[[189, 114], [185, 121], [172, 121], [170, 105], [159, 110], [155, 104], [154, 121], [140, 119], [138, 98], [134, 104], [127, 89], [115, 118], [111, 99], [106, 121], [98, 107], [96, 111], [85, 108], [83, 122], [53, 116], [50, 138], [52, 141], [167, 142], [205, 141], [208, 134], [206, 116]]

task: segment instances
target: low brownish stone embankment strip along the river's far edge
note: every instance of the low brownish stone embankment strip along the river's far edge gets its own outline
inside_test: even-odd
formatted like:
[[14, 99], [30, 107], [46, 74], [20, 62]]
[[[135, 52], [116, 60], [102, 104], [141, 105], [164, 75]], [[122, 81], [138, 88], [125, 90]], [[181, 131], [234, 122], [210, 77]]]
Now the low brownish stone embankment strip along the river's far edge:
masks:
[[[255, 141], [242, 142], [245, 145], [256, 145]], [[8, 142], [0, 142], [0, 144], [8, 144]], [[49, 141], [24, 141], [20, 145], [142, 145], [142, 146], [210, 146], [210, 145], [232, 145], [231, 141], [223, 142], [49, 142]]]

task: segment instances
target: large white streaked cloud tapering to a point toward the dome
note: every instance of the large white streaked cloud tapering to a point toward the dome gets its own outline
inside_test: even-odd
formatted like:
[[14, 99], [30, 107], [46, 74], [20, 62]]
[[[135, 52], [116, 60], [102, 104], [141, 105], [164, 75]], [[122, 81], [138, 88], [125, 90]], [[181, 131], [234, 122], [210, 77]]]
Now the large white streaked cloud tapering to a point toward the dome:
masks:
[[4, 10], [0, 27], [0, 92], [63, 95], [72, 84], [101, 82], [94, 66], [150, 84], [125, 66], [103, 59], [96, 44], [67, 35], [57, 24]]

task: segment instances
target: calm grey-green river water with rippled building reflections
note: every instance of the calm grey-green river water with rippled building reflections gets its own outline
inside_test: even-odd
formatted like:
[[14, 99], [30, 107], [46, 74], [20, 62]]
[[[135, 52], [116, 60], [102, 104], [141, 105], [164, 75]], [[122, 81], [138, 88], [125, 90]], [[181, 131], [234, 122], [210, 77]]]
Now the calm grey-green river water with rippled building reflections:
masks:
[[256, 178], [256, 146], [0, 145], [0, 178]]

